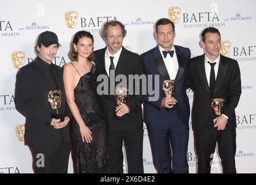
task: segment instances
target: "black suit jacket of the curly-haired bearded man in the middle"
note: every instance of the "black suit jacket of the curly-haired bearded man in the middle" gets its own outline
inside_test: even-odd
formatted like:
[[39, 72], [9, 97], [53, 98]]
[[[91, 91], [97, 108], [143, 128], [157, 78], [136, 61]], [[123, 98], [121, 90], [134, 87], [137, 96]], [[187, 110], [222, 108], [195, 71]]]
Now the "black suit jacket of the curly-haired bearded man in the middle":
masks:
[[[107, 47], [104, 49], [100, 49], [95, 51], [96, 55], [96, 69], [99, 75], [106, 75], [107, 72], [105, 70], [105, 51]], [[128, 75], [145, 75], [145, 65], [142, 62], [140, 56], [131, 51], [126, 50], [122, 47], [122, 52], [120, 54], [118, 64], [115, 68], [115, 76], [116, 75], [125, 75], [127, 79], [127, 84], [129, 87]], [[109, 79], [108, 81], [114, 79]], [[108, 82], [108, 83], [109, 83]], [[119, 82], [115, 82], [118, 84]], [[140, 86], [140, 90], [142, 87], [142, 82], [138, 84]], [[145, 85], [145, 84], [144, 84]], [[109, 86], [108, 86], [109, 87]], [[135, 84], [133, 84], [135, 87]], [[130, 93], [131, 94], [131, 93]], [[142, 121], [142, 108], [141, 104], [144, 102], [145, 95], [129, 95], [128, 101], [126, 103], [130, 108], [130, 113], [125, 114], [122, 117], [117, 117], [115, 114], [116, 102], [115, 95], [103, 95], [102, 101], [104, 104], [105, 115], [108, 120], [108, 129], [111, 132], [120, 132], [120, 131], [136, 131], [138, 129], [143, 129], [143, 121]]]

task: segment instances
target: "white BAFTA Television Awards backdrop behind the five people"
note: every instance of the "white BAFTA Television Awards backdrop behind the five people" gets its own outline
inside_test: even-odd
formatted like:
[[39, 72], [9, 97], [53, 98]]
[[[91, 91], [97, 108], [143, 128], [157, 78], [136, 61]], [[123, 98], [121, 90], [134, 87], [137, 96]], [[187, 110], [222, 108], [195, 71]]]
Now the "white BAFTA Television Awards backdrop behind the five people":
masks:
[[[178, 6], [180, 19], [175, 24], [175, 44], [191, 49], [192, 57], [203, 54], [199, 46], [200, 32], [208, 26], [217, 27], [222, 40], [228, 41], [230, 53], [226, 56], [239, 62], [242, 73], [242, 96], [237, 114], [238, 173], [256, 172], [256, 12], [253, 0], [176, 0], [176, 1], [3, 1], [0, 6], [0, 173], [32, 173], [30, 150], [24, 145], [25, 118], [14, 105], [16, 73], [20, 66], [28, 64], [36, 56], [36, 37], [43, 31], [56, 32], [62, 47], [58, 50], [56, 64], [70, 62], [68, 51], [75, 32], [85, 29], [94, 36], [94, 49], [105, 47], [100, 37], [101, 25], [113, 18], [126, 25], [127, 36], [123, 45], [141, 54], [156, 46], [153, 24], [158, 18], [169, 18], [169, 8]], [[65, 13], [75, 11], [73, 28], [68, 28]], [[74, 13], [74, 12], [73, 12]], [[71, 26], [69, 26], [71, 27]], [[17, 52], [14, 52], [17, 51]], [[13, 64], [13, 57], [20, 56], [20, 65]], [[192, 103], [193, 93], [188, 91]], [[191, 123], [189, 123], [191, 126]], [[144, 171], [155, 173], [147, 127], [144, 127]], [[196, 172], [196, 154], [193, 132], [190, 131], [188, 162], [189, 172]], [[124, 162], [124, 169], [126, 163]], [[72, 173], [70, 159], [69, 170]], [[220, 159], [216, 152], [212, 172], [221, 173]]]

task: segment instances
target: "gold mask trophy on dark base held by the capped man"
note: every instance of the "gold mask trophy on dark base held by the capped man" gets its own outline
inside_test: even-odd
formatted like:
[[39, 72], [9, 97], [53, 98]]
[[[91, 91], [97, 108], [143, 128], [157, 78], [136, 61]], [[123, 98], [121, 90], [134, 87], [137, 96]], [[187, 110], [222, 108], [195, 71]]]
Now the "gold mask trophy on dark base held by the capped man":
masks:
[[64, 114], [60, 113], [61, 106], [61, 90], [53, 90], [47, 93], [47, 101], [49, 102], [50, 108], [56, 110], [56, 114], [53, 114], [54, 119], [60, 119], [64, 121]]

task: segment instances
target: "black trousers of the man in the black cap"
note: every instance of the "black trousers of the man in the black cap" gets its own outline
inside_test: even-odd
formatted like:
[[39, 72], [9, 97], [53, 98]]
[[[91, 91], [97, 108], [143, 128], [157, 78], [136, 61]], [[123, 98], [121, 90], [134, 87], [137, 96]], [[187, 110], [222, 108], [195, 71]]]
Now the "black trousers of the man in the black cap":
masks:
[[30, 145], [35, 173], [67, 173], [71, 143]]

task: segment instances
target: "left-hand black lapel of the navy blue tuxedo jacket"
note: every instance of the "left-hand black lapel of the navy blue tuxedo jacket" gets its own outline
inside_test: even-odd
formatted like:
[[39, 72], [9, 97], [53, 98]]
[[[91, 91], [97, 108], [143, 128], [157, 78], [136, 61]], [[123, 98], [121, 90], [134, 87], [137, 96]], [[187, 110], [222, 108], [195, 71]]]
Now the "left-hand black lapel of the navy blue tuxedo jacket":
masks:
[[162, 55], [158, 47], [155, 47], [154, 56], [155, 58], [153, 58], [153, 61], [155, 62], [156, 68], [158, 69], [159, 73], [164, 77], [165, 80], [170, 80], [170, 76], [167, 72], [166, 66], [164, 64]]

